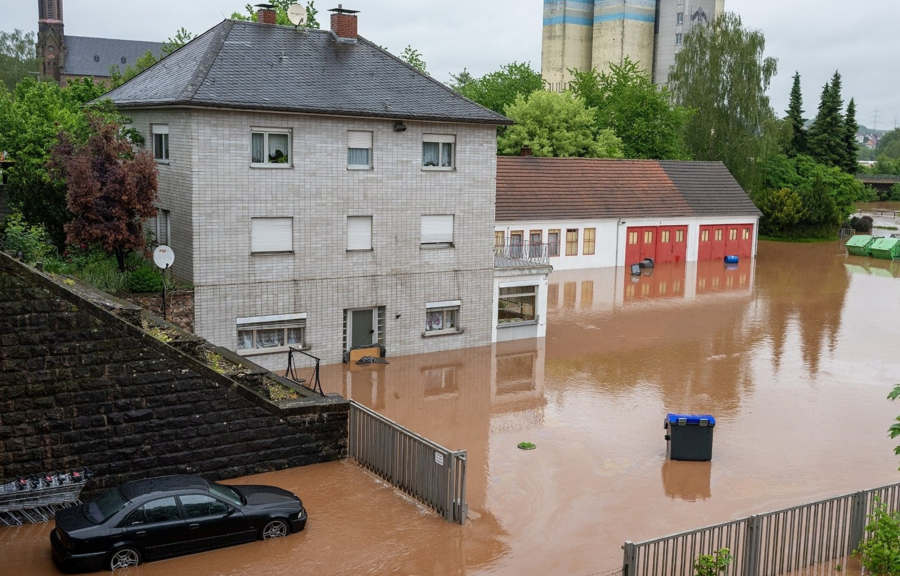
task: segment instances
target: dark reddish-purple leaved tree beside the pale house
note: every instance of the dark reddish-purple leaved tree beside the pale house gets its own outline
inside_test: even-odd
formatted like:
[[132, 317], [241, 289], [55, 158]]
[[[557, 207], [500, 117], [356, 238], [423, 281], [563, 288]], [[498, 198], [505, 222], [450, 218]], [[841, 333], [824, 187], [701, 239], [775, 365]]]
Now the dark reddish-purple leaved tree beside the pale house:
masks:
[[51, 170], [67, 183], [66, 224], [70, 244], [99, 245], [115, 254], [119, 271], [125, 256], [144, 246], [141, 222], [156, 215], [156, 164], [147, 150], [137, 153], [119, 126], [89, 118], [92, 134], [76, 146], [65, 134], [54, 148]]

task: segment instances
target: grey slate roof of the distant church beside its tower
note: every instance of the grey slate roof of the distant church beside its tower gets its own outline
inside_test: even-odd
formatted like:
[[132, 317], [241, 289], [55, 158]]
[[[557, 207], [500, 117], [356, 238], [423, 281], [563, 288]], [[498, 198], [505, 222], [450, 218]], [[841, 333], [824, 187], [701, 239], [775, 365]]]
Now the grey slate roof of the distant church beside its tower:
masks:
[[[89, 38], [66, 34], [66, 67], [64, 73], [74, 76], [109, 76], [111, 66], [124, 71], [134, 66], [137, 59], [153, 52], [160, 54], [162, 43], [141, 42], [139, 40], [115, 40], [112, 38]], [[125, 62], [122, 62], [122, 59]]]

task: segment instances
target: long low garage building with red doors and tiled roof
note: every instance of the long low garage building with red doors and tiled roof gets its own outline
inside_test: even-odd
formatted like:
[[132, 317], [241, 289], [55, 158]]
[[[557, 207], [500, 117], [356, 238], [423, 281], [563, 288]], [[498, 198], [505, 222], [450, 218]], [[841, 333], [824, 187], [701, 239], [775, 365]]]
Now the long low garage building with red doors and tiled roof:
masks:
[[495, 250], [556, 270], [754, 257], [759, 217], [720, 162], [497, 158]]

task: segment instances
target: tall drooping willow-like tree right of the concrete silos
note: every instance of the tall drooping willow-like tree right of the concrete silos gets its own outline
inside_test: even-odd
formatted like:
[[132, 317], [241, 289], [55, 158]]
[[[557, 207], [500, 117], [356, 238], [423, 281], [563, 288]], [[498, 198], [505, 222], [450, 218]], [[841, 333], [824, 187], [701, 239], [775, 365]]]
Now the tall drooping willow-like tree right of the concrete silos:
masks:
[[766, 90], [777, 61], [763, 56], [765, 47], [762, 32], [725, 13], [685, 35], [669, 75], [675, 102], [697, 110], [685, 129], [687, 152], [723, 162], [748, 189], [758, 181], [767, 153], [761, 134], [774, 117]]

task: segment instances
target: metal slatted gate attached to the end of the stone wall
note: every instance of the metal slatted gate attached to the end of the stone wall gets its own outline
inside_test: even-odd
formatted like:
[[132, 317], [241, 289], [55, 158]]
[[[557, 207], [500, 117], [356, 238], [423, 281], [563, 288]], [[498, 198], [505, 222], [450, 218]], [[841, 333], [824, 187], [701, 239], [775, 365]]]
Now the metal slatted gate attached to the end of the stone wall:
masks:
[[465, 450], [448, 450], [351, 400], [349, 452], [445, 520], [465, 523]]

